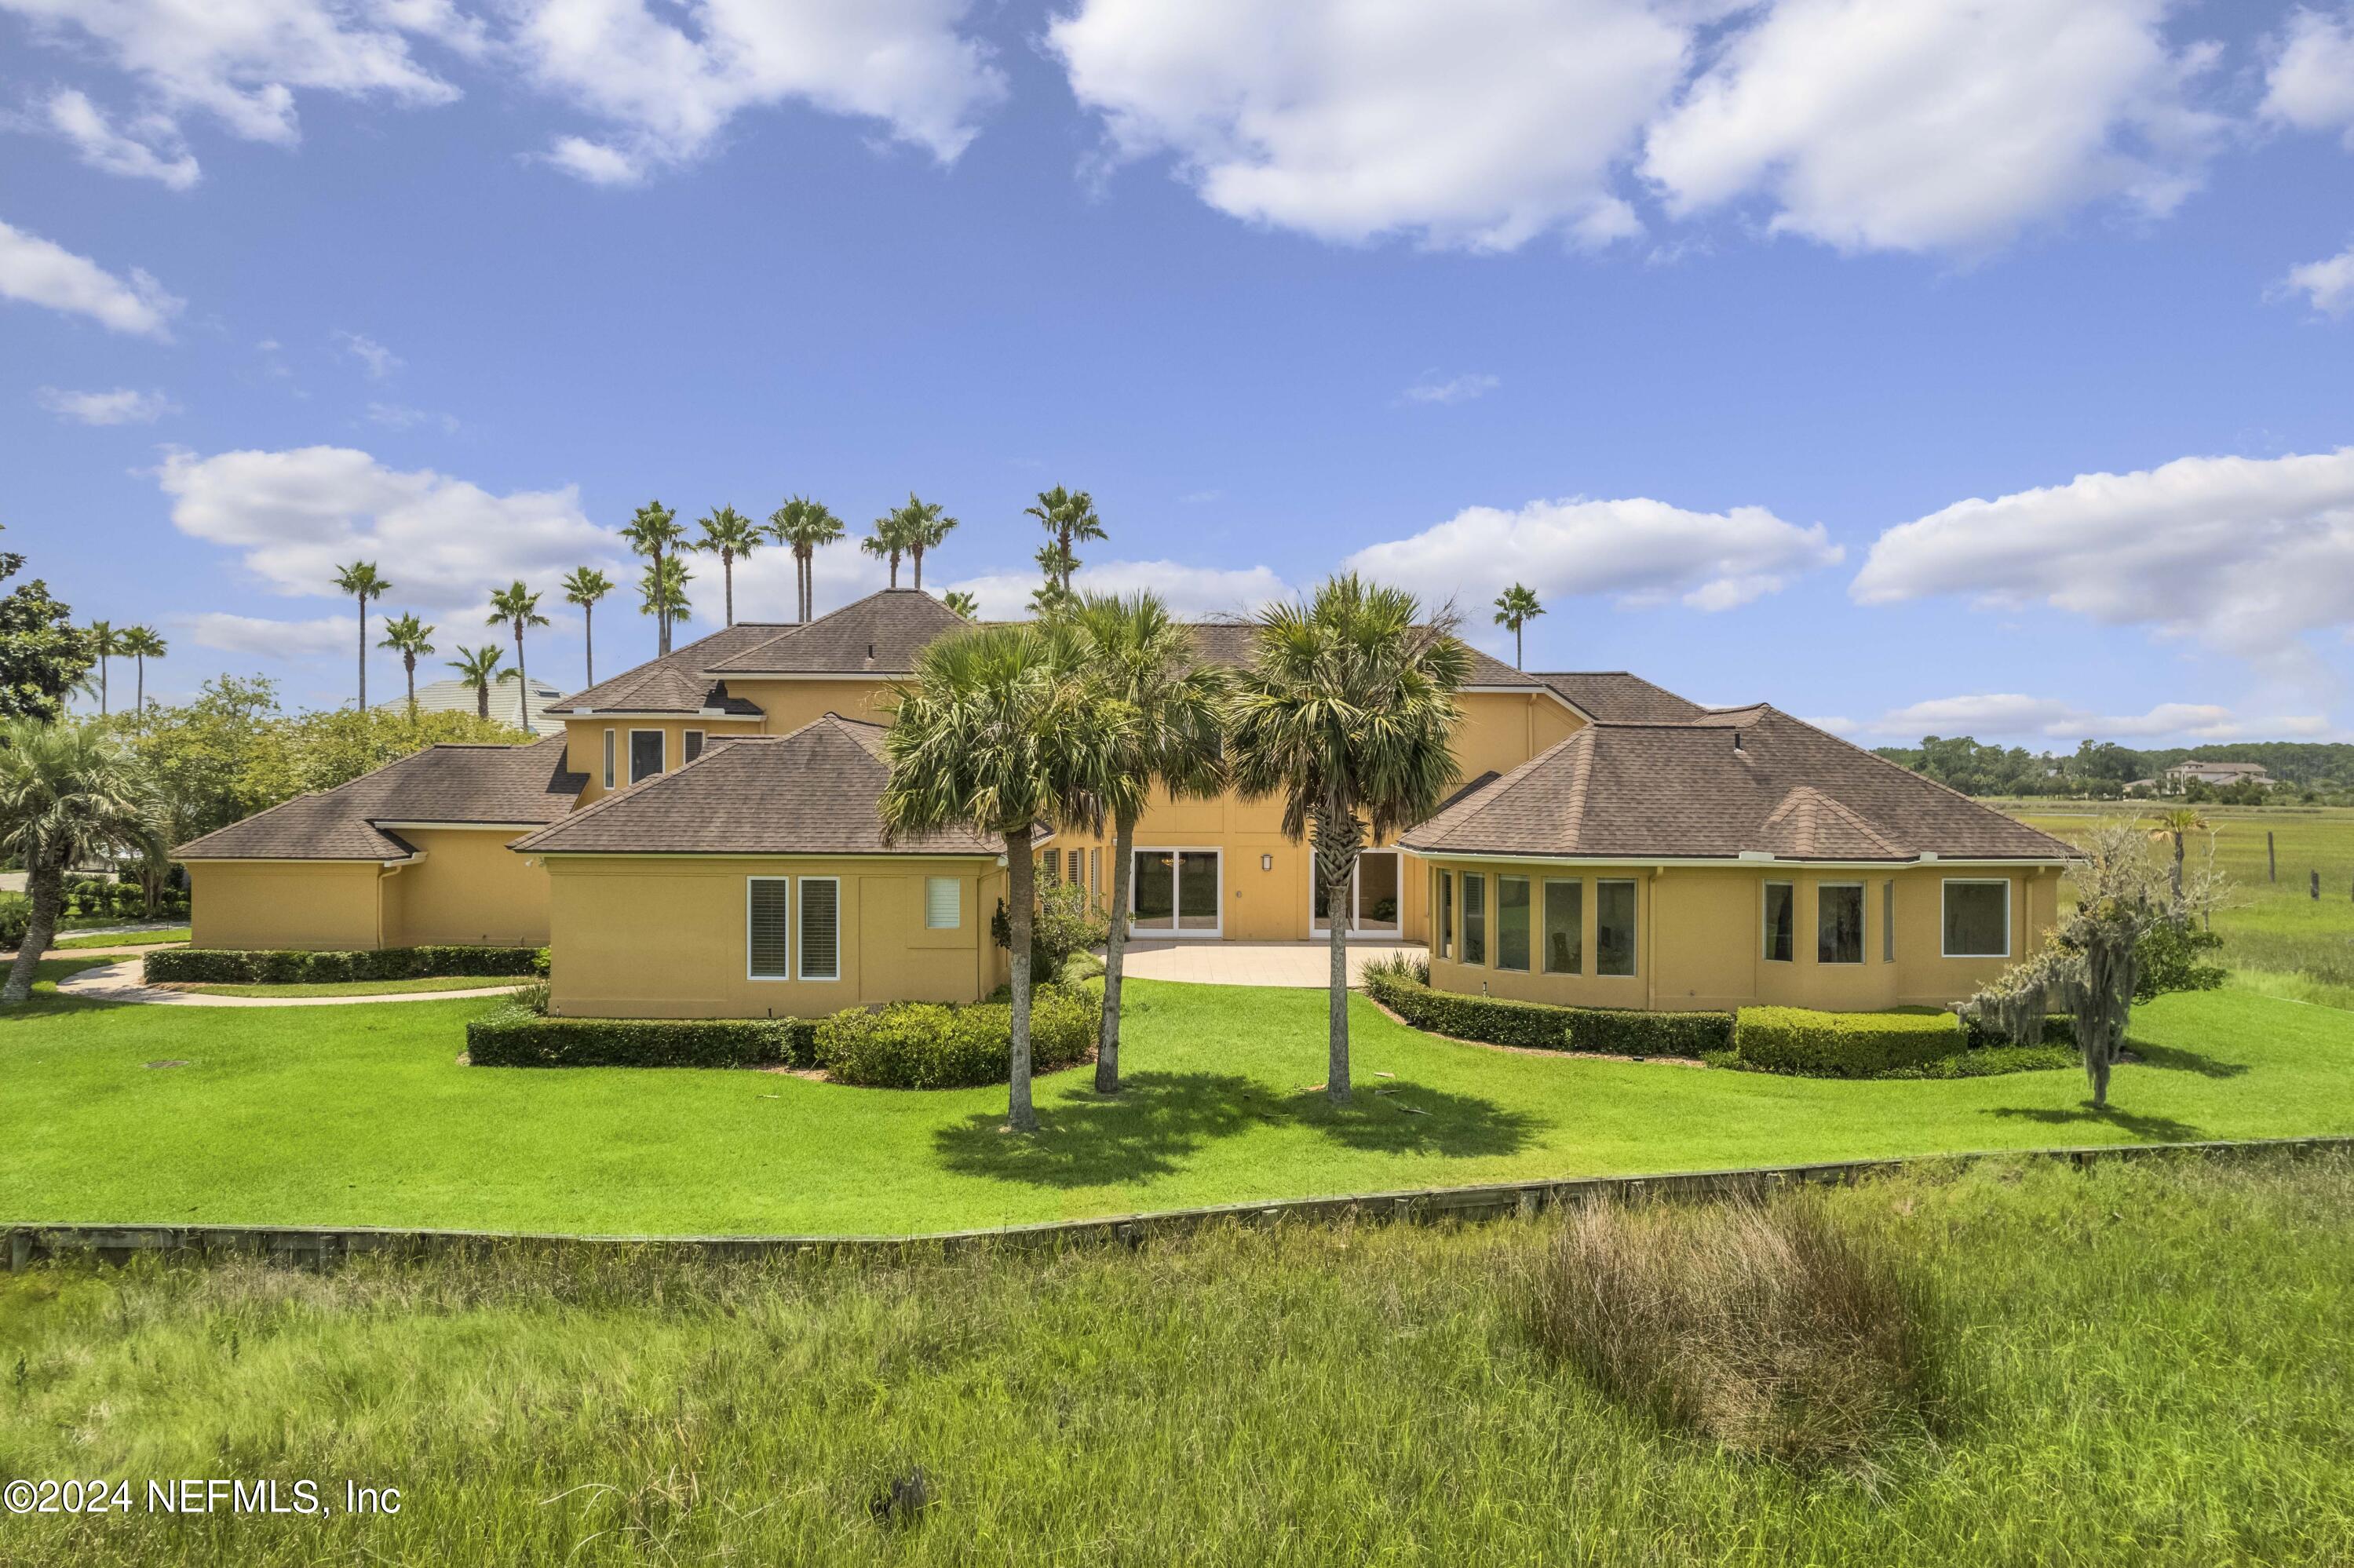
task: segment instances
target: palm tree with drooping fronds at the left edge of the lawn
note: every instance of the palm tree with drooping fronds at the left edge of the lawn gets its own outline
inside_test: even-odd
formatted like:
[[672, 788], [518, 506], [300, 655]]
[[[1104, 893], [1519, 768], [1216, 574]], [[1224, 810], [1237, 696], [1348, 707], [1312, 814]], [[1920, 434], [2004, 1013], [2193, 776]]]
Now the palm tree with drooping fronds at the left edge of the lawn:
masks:
[[108, 850], [160, 852], [162, 831], [155, 789], [104, 725], [0, 725], [0, 855], [24, 862], [33, 899], [0, 1003], [33, 996], [33, 972], [66, 904], [66, 869]]

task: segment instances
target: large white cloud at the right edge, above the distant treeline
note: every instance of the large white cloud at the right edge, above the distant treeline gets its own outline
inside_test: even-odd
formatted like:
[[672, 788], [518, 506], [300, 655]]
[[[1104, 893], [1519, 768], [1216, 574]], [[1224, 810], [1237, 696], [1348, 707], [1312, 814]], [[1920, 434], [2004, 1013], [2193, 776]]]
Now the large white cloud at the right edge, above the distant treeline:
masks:
[[2243, 657], [2354, 622], [2354, 447], [2312, 457], [2182, 457], [2086, 473], [1890, 527], [1850, 593], [1888, 605], [1937, 593], [2043, 603], [2109, 626], [2152, 626]]

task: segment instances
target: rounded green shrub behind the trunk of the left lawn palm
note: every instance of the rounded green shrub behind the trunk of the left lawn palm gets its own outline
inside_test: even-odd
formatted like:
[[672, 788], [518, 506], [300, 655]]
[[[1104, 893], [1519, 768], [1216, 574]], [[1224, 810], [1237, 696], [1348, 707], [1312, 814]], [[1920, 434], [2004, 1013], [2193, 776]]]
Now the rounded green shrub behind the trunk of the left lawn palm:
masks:
[[[977, 1088], [1012, 1076], [1012, 1005], [890, 1003], [817, 1024], [817, 1064], [869, 1088]], [[1092, 991], [1031, 991], [1031, 1071], [1076, 1067], [1095, 1050], [1104, 1003]]]

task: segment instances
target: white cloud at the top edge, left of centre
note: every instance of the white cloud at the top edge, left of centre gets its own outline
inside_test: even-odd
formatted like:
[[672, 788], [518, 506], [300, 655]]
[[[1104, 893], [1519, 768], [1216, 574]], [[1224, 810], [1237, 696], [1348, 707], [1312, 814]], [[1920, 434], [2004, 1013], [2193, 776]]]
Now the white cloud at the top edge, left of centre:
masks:
[[[746, 108], [805, 101], [864, 115], [953, 162], [1005, 97], [989, 49], [958, 31], [970, 0], [534, 0], [508, 49], [534, 82], [607, 120], [548, 162], [631, 184], [711, 148]], [[678, 24], [676, 26], [673, 16]]]

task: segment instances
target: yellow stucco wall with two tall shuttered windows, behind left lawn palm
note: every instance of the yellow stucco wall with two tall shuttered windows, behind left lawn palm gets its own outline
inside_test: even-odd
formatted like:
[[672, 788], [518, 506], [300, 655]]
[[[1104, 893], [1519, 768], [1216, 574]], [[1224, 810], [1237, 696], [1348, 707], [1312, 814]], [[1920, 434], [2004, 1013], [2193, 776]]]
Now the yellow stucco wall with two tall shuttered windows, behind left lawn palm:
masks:
[[[746, 878], [840, 878], [840, 979], [746, 975]], [[923, 883], [963, 883], [960, 923], [927, 930]], [[822, 1017], [883, 1001], [977, 1001], [1005, 972], [986, 859], [548, 857], [551, 1005], [577, 1017]], [[800, 897], [791, 944], [800, 951]]]

